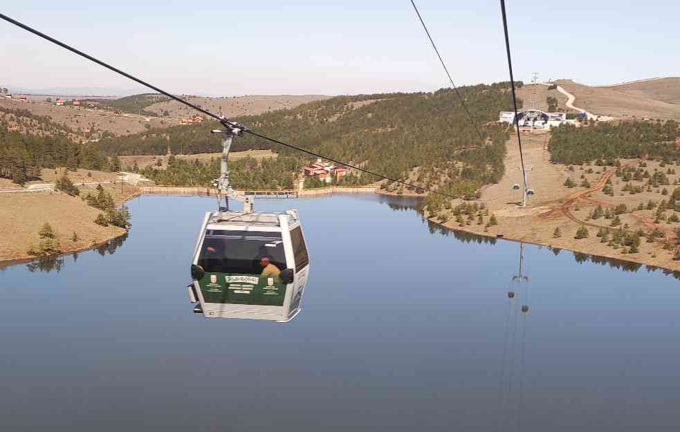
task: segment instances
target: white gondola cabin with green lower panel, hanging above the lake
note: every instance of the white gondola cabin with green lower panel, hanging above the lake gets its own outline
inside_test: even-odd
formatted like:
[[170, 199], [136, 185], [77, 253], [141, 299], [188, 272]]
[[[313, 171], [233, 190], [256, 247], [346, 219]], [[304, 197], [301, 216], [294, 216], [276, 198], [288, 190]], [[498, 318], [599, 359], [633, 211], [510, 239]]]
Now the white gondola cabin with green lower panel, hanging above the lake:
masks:
[[290, 321], [309, 276], [297, 210], [209, 212], [191, 270], [189, 297], [205, 317]]

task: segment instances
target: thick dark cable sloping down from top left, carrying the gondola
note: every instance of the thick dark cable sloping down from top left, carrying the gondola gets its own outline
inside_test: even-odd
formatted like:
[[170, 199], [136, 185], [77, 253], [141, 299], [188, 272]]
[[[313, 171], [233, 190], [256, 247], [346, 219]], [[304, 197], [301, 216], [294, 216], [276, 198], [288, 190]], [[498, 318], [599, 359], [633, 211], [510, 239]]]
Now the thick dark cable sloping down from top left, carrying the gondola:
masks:
[[145, 82], [145, 81], [143, 81], [142, 79], [139, 79], [139, 78], [135, 77], [134, 75], [130, 75], [129, 73], [126, 73], [126, 72], [124, 72], [124, 71], [121, 71], [120, 69], [118, 69], [118, 68], [116, 68], [116, 67], [113, 67], [113, 66], [111, 66], [111, 65], [109, 65], [109, 64], [107, 64], [107, 63], [105, 63], [105, 62], [102, 62], [101, 60], [96, 59], [95, 57], [92, 57], [91, 55], [88, 55], [88, 54], [86, 54], [86, 53], [83, 53], [81, 50], [77, 50], [76, 48], [73, 48], [72, 46], [69, 46], [69, 45], [67, 45], [67, 44], [64, 44], [64, 42], [62, 42], [62, 41], [59, 41], [59, 40], [57, 40], [57, 39], [55, 39], [55, 38], [53, 38], [53, 37], [50, 37], [50, 36], [44, 34], [43, 32], [39, 32], [38, 30], [35, 30], [35, 28], [32, 28], [32, 27], [30, 27], [30, 26], [27, 26], [26, 24], [22, 24], [21, 22], [15, 20], [15, 19], [12, 19], [12, 18], [10, 18], [10, 17], [8, 17], [7, 15], [4, 15], [4, 14], [0, 13], [0, 18], [3, 19], [3, 20], [5, 20], [5, 21], [8, 21], [8, 22], [11, 23], [11, 24], [14, 24], [14, 25], [17, 26], [17, 27], [23, 28], [24, 30], [33, 33], [34, 35], [37, 35], [37, 36], [39, 36], [39, 37], [42, 37], [43, 39], [46, 39], [46, 40], [52, 42], [53, 44], [56, 44], [56, 45], [58, 45], [58, 46], [61, 46], [62, 48], [65, 48], [66, 50], [71, 51], [72, 53], [75, 53], [75, 54], [77, 54], [77, 55], [80, 55], [80, 57], [84, 57], [84, 58], [90, 60], [91, 62], [95, 62], [96, 64], [99, 64], [100, 66], [104, 66], [104, 68], [107, 68], [107, 69], [109, 69], [110, 71], [113, 71], [113, 72], [115, 72], [115, 73], [118, 73], [119, 75], [122, 75], [122, 76], [124, 76], [124, 77], [126, 77], [126, 78], [129, 78], [129, 79], [133, 80], [134, 82], [138, 82], [139, 84], [142, 84], [143, 86], [147, 86], [147, 87], [151, 88], [152, 90], [157, 91], [158, 93], [160, 93], [160, 94], [162, 94], [162, 95], [165, 95], [165, 96], [171, 98], [172, 100], [176, 100], [177, 102], [180, 102], [181, 104], [185, 104], [186, 106], [189, 106], [190, 108], [193, 108], [193, 109], [195, 109], [196, 111], [199, 111], [199, 112], [201, 112], [201, 113], [203, 113], [203, 114], [205, 114], [205, 115], [208, 115], [208, 116], [210, 116], [211, 118], [214, 118], [215, 120], [221, 122], [221, 124], [223, 124], [223, 126], [225, 126], [227, 129], [239, 129], [239, 130], [243, 131], [244, 133], [250, 133], [250, 135], [256, 136], [256, 137], [258, 137], [258, 138], [262, 138], [262, 139], [264, 139], [264, 140], [268, 140], [268, 141], [274, 142], [274, 143], [276, 143], [276, 144], [280, 144], [280, 145], [282, 145], [282, 146], [284, 146], [284, 147], [289, 147], [289, 148], [291, 148], [291, 149], [295, 149], [295, 150], [297, 150], [297, 151], [301, 151], [302, 153], [307, 153], [307, 154], [309, 154], [309, 155], [311, 155], [311, 156], [314, 156], [314, 157], [316, 157], [316, 158], [322, 158], [322, 159], [325, 159], [325, 160], [329, 160], [329, 161], [331, 161], [331, 162], [333, 162], [333, 163], [336, 163], [336, 164], [338, 164], [338, 165], [344, 165], [345, 167], [349, 167], [349, 168], [351, 168], [351, 169], [355, 169], [356, 171], [361, 171], [361, 172], [363, 172], [363, 173], [370, 174], [371, 176], [376, 176], [376, 177], [378, 177], [378, 178], [383, 178], [383, 179], [385, 179], [385, 180], [389, 180], [389, 181], [391, 181], [391, 182], [398, 183], [398, 184], [400, 184], [400, 185], [405, 185], [405, 186], [407, 186], [407, 187], [412, 187], [412, 188], [414, 188], [414, 189], [417, 189], [417, 190], [423, 191], [423, 192], [430, 192], [431, 194], [437, 194], [437, 195], [443, 196], [443, 197], [445, 197], [445, 198], [450, 198], [450, 199], [452, 199], [452, 200], [457, 199], [456, 196], [452, 196], [452, 195], [449, 195], [449, 194], [444, 194], [443, 192], [434, 191], [434, 190], [428, 189], [428, 188], [426, 188], [426, 187], [420, 187], [420, 186], [412, 185], [412, 184], [410, 184], [410, 183], [403, 182], [403, 181], [401, 181], [401, 180], [397, 180], [396, 178], [384, 176], [383, 174], [376, 173], [376, 172], [374, 172], [374, 171], [370, 171], [370, 170], [368, 170], [368, 169], [361, 168], [361, 167], [358, 167], [358, 166], [356, 166], [356, 165], [351, 165], [351, 164], [349, 164], [349, 163], [347, 163], [347, 162], [342, 162], [342, 161], [340, 161], [340, 160], [336, 160], [336, 159], [334, 159], [334, 158], [330, 158], [329, 156], [324, 156], [324, 155], [322, 155], [322, 154], [320, 154], [320, 153], [315, 153], [315, 152], [313, 152], [313, 151], [309, 151], [309, 150], [303, 149], [302, 147], [298, 147], [298, 146], [295, 146], [295, 145], [293, 145], [293, 144], [288, 144], [288, 143], [286, 143], [286, 142], [282, 142], [282, 141], [279, 141], [279, 140], [275, 140], [274, 138], [269, 138], [269, 137], [266, 136], [266, 135], [261, 135], [260, 133], [256, 133], [256, 132], [251, 131], [250, 129], [246, 128], [246, 126], [243, 126], [243, 124], [240, 124], [240, 123], [237, 123], [237, 122], [232, 122], [232, 121], [230, 121], [230, 120], [227, 120], [226, 118], [224, 118], [224, 117], [221, 116], [221, 115], [216, 115], [216, 114], [211, 113], [210, 111], [207, 111], [207, 110], [205, 110], [205, 109], [202, 109], [200, 106], [197, 106], [197, 105], [195, 105], [195, 104], [192, 104], [191, 102], [188, 102], [188, 101], [186, 101], [186, 100], [183, 100], [181, 97], [177, 97], [177, 96], [175, 96], [175, 95], [172, 95], [172, 93], [168, 93], [167, 91], [164, 91], [164, 90], [161, 89], [161, 88], [158, 88], [158, 87], [156, 87], [156, 86], [154, 86], [154, 85], [152, 85], [152, 84], [149, 84], [148, 82]]

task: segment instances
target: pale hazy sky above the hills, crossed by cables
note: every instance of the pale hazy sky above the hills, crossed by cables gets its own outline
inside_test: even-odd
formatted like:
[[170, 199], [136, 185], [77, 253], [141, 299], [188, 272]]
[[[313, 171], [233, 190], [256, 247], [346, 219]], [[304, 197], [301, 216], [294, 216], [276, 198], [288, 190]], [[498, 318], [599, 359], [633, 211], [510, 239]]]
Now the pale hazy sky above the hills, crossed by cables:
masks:
[[[447, 86], [409, 0], [6, 1], [2, 12], [176, 93], [347, 94]], [[456, 84], [508, 79], [498, 1], [418, 0]], [[515, 78], [680, 75], [680, 3], [507, 0]], [[0, 85], [137, 88], [0, 21]]]

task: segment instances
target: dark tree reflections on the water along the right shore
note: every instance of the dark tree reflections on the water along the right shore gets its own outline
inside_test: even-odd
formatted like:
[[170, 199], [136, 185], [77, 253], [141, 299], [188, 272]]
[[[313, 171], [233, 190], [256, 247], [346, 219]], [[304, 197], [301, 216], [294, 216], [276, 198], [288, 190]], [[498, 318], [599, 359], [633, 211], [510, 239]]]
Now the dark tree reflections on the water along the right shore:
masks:
[[[432, 220], [426, 219], [423, 213], [422, 198], [416, 197], [404, 198], [399, 196], [383, 195], [380, 196], [378, 201], [380, 203], [387, 204], [390, 209], [393, 209], [398, 212], [413, 211], [421, 215], [421, 220], [423, 221], [423, 223], [428, 225], [428, 230], [430, 231], [430, 234], [441, 236], [453, 236], [454, 238], [456, 238], [456, 240], [461, 241], [462, 243], [478, 243], [478, 244], [484, 243], [495, 245], [497, 242], [497, 239], [493, 237], [480, 236], [478, 234], [472, 234], [470, 232], [457, 231], [454, 229], [450, 229], [448, 227], [444, 227], [439, 223], [432, 222]], [[549, 247], [549, 249], [553, 252], [553, 254], [555, 254], [555, 256], [558, 256], [560, 252], [562, 252], [562, 249], [560, 249], [559, 247]], [[641, 267], [643, 267], [644, 265], [641, 263], [634, 263], [633, 261], [609, 258], [607, 256], [585, 254], [582, 252], [572, 253], [574, 260], [579, 264], [595, 263], [600, 265], [609, 265], [609, 267], [621, 270], [623, 272], [635, 273], [638, 272], [638, 270], [640, 270]], [[661, 270], [661, 272], [663, 272], [663, 274], [667, 276], [673, 276], [675, 279], [680, 279], [680, 272], [678, 271], [661, 269], [660, 267], [656, 267], [654, 265], [644, 265], [644, 267], [645, 270], [647, 270], [647, 272], [649, 273], [656, 272], [656, 270]]]

